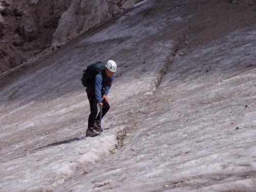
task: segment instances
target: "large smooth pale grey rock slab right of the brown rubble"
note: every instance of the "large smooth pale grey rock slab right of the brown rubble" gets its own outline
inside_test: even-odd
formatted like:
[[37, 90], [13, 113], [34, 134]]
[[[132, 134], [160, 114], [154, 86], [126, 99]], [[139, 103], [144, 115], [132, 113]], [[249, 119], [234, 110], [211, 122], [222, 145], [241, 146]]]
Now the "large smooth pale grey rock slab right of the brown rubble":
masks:
[[70, 34], [79, 34], [97, 24], [105, 23], [113, 18], [113, 12], [121, 9], [107, 1], [82, 1], [74, 0], [69, 9], [62, 14], [53, 42], [64, 41]]

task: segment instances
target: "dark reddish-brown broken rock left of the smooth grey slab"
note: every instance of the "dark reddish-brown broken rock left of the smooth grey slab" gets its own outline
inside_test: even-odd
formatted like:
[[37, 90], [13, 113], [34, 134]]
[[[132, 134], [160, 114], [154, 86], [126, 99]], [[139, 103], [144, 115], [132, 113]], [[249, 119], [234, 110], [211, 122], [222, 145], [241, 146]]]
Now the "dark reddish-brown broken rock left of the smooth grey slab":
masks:
[[0, 74], [50, 48], [58, 20], [71, 0], [56, 2], [0, 1]]

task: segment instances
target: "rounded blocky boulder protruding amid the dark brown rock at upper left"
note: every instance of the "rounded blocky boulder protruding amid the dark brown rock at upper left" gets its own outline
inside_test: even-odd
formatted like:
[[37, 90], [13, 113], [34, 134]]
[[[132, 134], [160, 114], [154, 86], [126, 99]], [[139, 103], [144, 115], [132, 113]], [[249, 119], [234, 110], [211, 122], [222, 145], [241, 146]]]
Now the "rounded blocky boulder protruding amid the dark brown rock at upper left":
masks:
[[39, 35], [36, 25], [31, 22], [20, 22], [18, 31], [19, 35], [23, 36], [27, 41], [32, 41]]

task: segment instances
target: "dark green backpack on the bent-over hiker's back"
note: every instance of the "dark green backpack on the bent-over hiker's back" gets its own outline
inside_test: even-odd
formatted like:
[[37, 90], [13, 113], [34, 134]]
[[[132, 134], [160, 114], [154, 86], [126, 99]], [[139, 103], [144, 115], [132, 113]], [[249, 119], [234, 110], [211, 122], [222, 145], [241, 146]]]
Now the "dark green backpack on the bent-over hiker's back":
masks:
[[[105, 69], [105, 64], [103, 62], [96, 62], [89, 66], [87, 66], [87, 69], [83, 71], [82, 74], [82, 85], [86, 88], [91, 86], [91, 83], [95, 76], [100, 73], [103, 69]], [[100, 73], [101, 74], [101, 73]]]

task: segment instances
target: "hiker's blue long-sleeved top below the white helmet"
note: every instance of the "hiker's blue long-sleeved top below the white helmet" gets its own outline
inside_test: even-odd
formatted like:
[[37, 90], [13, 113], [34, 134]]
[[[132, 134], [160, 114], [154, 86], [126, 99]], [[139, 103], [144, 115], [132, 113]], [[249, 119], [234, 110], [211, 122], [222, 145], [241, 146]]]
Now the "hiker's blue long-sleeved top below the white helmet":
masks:
[[[101, 73], [105, 73], [105, 71], [102, 71]], [[102, 81], [102, 76], [103, 76], [103, 81]], [[102, 76], [100, 73], [98, 73], [95, 76], [92, 82], [94, 84], [94, 89], [92, 87], [88, 87], [86, 89], [87, 94], [91, 96], [95, 96], [98, 103], [102, 102], [103, 95], [108, 95], [114, 79], [114, 75], [112, 75], [111, 77], [107, 77], [105, 76], [105, 74], [102, 74]]]

